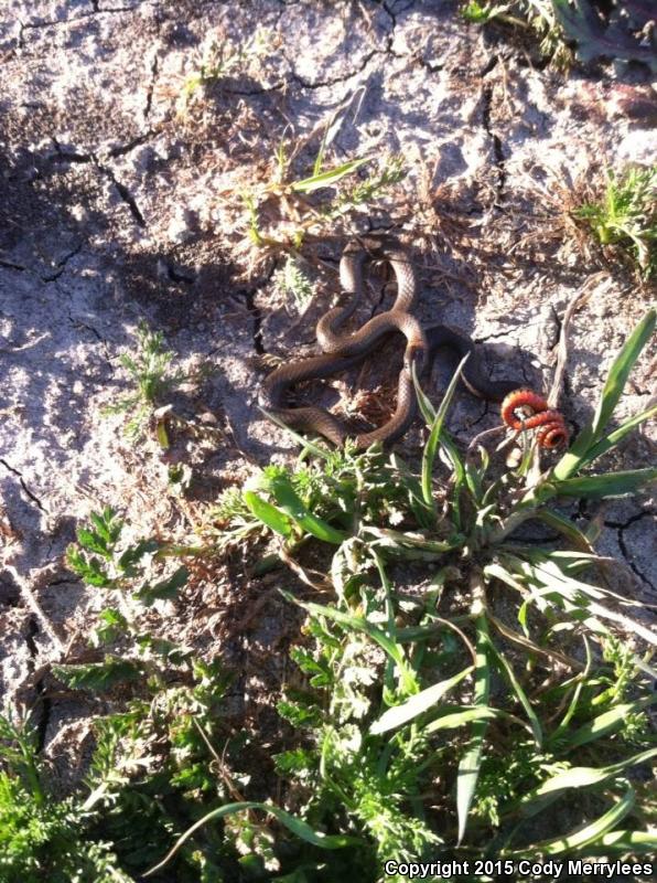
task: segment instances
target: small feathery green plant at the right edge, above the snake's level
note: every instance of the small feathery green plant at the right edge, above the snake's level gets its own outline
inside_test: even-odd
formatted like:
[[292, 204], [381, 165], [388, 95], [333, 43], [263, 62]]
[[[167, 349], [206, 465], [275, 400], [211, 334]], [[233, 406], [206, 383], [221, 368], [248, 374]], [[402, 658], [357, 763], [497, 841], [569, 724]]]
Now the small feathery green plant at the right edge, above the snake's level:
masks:
[[596, 202], [573, 212], [602, 245], [628, 252], [644, 276], [657, 272], [657, 166], [606, 171], [605, 190]]

